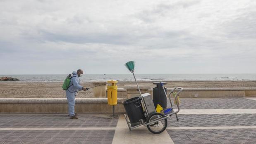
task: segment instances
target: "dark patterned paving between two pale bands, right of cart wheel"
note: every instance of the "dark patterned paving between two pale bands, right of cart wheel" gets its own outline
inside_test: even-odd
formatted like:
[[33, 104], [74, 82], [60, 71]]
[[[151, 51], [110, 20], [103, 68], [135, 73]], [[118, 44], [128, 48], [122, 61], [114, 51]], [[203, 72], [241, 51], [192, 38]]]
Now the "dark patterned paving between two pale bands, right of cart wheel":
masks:
[[256, 114], [186, 114], [168, 118], [168, 127], [255, 126]]

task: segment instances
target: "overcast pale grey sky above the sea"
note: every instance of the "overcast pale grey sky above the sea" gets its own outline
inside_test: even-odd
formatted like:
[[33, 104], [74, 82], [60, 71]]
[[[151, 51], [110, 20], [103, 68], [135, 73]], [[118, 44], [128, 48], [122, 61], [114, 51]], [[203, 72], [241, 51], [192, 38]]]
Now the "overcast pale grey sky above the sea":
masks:
[[0, 0], [0, 74], [256, 73], [256, 0]]

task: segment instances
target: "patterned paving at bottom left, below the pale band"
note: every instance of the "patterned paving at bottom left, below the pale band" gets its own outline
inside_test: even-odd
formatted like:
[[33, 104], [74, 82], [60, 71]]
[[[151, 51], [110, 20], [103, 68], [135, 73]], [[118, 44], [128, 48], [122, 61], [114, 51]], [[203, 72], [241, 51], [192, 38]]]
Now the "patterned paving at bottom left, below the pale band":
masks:
[[0, 131], [3, 144], [111, 144], [115, 130]]

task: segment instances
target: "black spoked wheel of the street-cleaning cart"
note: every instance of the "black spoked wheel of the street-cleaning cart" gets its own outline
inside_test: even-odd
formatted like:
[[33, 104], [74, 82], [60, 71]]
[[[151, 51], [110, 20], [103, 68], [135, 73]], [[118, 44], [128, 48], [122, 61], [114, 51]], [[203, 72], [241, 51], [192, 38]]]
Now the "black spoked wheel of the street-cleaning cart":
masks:
[[[161, 113], [153, 113], [148, 117], [147, 123], [150, 123], [150, 121], [157, 120], [157, 119], [160, 119], [160, 118], [163, 118], [163, 117], [165, 117], [165, 116]], [[156, 123], [152, 123], [150, 125], [147, 125], [147, 127], [148, 127], [148, 130], [150, 132], [152, 132], [153, 134], [160, 134], [167, 127], [167, 119], [165, 118], [163, 120], [159, 120]]]

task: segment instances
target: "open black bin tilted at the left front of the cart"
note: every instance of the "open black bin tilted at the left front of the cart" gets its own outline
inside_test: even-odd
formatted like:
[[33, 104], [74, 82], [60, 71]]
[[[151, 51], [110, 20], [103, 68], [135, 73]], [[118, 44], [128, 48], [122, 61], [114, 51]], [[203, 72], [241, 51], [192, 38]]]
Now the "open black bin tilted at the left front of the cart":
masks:
[[141, 105], [141, 97], [133, 97], [123, 102], [124, 109], [132, 126], [139, 125], [140, 119], [146, 120], [144, 111]]

